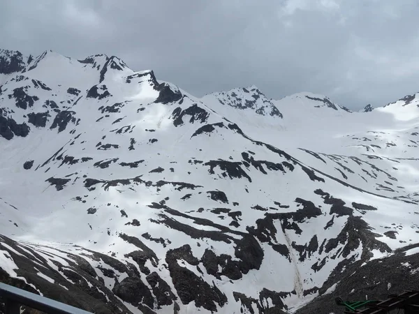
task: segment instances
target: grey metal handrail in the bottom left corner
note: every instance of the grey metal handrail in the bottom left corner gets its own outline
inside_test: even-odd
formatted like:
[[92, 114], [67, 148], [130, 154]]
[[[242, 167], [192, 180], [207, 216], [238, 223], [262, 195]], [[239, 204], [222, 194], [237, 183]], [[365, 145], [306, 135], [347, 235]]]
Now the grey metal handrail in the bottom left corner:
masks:
[[75, 308], [74, 306], [6, 285], [5, 283], [0, 283], [0, 298], [3, 299], [6, 305], [5, 314], [20, 314], [20, 306], [22, 305], [48, 314], [91, 314], [91, 312], [81, 310], [80, 308]]

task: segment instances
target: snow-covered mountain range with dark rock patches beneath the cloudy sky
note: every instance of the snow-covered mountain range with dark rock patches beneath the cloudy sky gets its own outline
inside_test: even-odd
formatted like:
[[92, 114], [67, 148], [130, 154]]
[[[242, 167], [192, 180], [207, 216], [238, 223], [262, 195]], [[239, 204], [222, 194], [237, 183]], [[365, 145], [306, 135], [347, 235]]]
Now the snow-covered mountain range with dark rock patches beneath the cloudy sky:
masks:
[[413, 99], [196, 98], [103, 54], [1, 50], [0, 73], [2, 282], [94, 313], [298, 312], [418, 255]]

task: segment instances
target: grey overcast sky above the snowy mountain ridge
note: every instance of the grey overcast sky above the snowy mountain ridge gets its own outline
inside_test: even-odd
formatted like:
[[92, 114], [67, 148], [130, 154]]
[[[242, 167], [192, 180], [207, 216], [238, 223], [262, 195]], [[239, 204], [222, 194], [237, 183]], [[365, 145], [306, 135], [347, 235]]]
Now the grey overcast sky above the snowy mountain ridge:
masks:
[[353, 110], [419, 91], [416, 0], [0, 1], [0, 47], [105, 53], [195, 96], [255, 84]]

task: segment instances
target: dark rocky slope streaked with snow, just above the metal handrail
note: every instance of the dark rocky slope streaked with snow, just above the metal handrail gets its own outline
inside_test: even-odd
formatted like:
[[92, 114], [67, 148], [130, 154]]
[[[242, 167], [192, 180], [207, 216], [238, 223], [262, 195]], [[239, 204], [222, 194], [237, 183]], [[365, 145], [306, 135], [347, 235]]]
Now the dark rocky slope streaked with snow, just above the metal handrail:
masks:
[[[2, 244], [8, 246], [2, 246]], [[6, 271], [0, 268], [0, 282], [15, 287], [22, 288], [29, 292], [39, 294], [34, 287], [41, 290], [44, 297], [61, 301], [64, 304], [82, 308], [91, 313], [103, 314], [122, 314], [129, 313], [128, 309], [122, 304], [119, 299], [115, 297], [110, 290], [98, 280], [96, 271], [91, 267], [87, 260], [71, 253], [65, 253], [66, 267], [63, 264], [54, 260], [55, 253], [47, 253], [46, 255], [39, 255], [33, 246], [24, 246], [8, 239], [7, 237], [0, 236], [0, 249], [6, 250], [13, 262], [17, 265], [17, 276], [20, 278], [11, 278]], [[10, 249], [9, 249], [10, 248]], [[17, 252], [17, 253], [16, 253]], [[61, 255], [63, 252], [59, 253]], [[100, 255], [94, 253], [94, 255]], [[61, 255], [62, 256], [62, 255]], [[113, 260], [112, 257], [100, 255], [103, 261], [109, 262]], [[50, 258], [54, 267], [51, 267], [51, 262], [46, 258]], [[117, 264], [115, 269], [117, 269]], [[113, 266], [112, 266], [113, 267]], [[58, 268], [59, 271], [56, 269]], [[122, 269], [121, 269], [122, 270]], [[126, 267], [122, 272], [126, 271]], [[52, 278], [54, 283], [45, 280], [43, 277], [38, 276], [41, 272], [45, 276]], [[22, 280], [21, 278], [24, 278]], [[66, 278], [73, 281], [69, 283]], [[32, 287], [32, 285], [34, 287]], [[0, 311], [1, 311], [0, 302]], [[26, 313], [27, 311], [25, 311]], [[30, 312], [35, 313], [35, 312]], [[36, 312], [38, 313], [38, 312]]]

